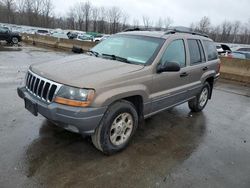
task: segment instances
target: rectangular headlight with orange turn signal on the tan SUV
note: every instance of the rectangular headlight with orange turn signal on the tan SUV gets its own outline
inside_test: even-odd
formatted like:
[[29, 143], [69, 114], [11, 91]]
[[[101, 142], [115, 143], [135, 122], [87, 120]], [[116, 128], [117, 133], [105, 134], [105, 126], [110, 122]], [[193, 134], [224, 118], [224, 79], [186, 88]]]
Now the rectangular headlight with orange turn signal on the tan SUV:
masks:
[[62, 86], [58, 91], [55, 102], [69, 106], [86, 107], [94, 98], [95, 91], [92, 89], [80, 89]]

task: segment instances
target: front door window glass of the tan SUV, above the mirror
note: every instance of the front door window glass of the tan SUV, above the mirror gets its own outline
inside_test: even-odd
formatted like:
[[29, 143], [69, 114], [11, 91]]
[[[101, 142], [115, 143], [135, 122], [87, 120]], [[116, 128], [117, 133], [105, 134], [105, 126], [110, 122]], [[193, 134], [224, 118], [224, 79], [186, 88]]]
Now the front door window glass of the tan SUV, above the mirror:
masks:
[[161, 63], [167, 62], [178, 63], [181, 68], [186, 66], [186, 52], [183, 40], [175, 40], [167, 47], [162, 56]]

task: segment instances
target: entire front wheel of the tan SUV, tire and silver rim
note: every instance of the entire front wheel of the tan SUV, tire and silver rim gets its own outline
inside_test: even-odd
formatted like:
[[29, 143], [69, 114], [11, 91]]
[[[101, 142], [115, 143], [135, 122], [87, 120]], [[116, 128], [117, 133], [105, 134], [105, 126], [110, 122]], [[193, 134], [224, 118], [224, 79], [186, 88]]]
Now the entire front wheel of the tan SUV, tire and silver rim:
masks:
[[135, 106], [125, 100], [112, 104], [95, 133], [91, 136], [94, 146], [106, 155], [117, 153], [128, 146], [138, 127]]

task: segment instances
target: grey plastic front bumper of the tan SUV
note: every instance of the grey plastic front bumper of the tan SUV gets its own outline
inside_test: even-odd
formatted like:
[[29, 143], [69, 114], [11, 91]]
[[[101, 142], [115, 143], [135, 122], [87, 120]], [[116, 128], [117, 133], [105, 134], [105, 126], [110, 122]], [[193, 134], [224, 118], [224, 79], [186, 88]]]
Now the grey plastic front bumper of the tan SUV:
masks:
[[53, 102], [48, 104], [30, 94], [25, 87], [17, 88], [17, 93], [22, 99], [36, 104], [37, 112], [57, 126], [84, 135], [94, 133], [107, 109], [71, 107]]

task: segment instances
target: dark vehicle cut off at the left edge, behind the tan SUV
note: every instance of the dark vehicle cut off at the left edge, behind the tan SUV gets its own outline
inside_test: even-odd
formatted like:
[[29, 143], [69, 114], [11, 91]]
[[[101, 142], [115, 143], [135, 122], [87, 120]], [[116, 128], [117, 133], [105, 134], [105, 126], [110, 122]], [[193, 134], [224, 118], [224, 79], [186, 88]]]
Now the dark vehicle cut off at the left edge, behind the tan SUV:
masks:
[[19, 33], [13, 33], [8, 27], [0, 26], [0, 40], [5, 40], [7, 43], [18, 44], [21, 38]]

